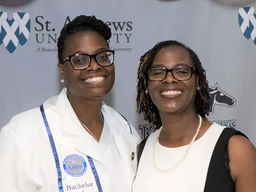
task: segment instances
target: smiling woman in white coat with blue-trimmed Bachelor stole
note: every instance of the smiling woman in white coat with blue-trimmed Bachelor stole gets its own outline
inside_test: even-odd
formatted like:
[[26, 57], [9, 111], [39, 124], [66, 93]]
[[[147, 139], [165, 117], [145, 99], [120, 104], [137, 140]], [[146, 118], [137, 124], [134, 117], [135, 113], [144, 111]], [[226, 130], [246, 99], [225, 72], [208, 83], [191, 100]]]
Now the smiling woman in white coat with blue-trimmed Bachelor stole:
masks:
[[78, 16], [58, 38], [60, 95], [0, 132], [1, 192], [130, 192], [138, 134], [102, 98], [114, 84], [110, 28]]

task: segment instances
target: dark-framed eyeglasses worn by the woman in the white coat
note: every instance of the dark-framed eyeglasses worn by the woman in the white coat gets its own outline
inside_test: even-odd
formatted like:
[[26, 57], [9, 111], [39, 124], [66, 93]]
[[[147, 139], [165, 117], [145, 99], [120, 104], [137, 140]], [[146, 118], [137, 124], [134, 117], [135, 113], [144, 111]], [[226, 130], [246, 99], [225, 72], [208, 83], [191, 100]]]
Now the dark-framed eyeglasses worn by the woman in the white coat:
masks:
[[114, 54], [115, 54], [115, 51], [113, 50], [104, 50], [93, 55], [78, 53], [78, 54], [70, 55], [67, 58], [64, 58], [64, 60], [62, 60], [60, 64], [63, 64], [67, 60], [70, 60], [70, 63], [74, 69], [83, 70], [90, 65], [92, 58], [95, 58], [96, 62], [100, 66], [106, 67], [113, 64]]

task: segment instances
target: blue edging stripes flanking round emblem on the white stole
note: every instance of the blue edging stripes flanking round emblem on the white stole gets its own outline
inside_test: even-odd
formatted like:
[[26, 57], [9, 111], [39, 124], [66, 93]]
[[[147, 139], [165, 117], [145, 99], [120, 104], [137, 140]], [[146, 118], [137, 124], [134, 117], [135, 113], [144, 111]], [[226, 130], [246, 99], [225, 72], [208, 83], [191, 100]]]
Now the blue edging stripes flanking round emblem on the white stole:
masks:
[[[52, 137], [52, 132], [50, 130], [49, 124], [48, 124], [46, 116], [45, 116], [43, 104], [40, 106], [40, 111], [41, 111], [42, 117], [44, 119], [44, 124], [45, 124], [45, 127], [46, 127], [46, 131], [47, 131], [47, 134], [48, 134], [48, 137], [49, 137], [49, 140], [50, 140], [50, 144], [51, 144], [51, 147], [52, 147], [52, 152], [53, 152], [53, 155], [54, 155], [54, 160], [55, 160], [56, 169], [57, 169], [57, 173], [58, 173], [59, 192], [64, 192], [63, 191], [63, 185], [62, 185], [62, 174], [61, 174], [61, 169], [60, 169], [60, 161], [59, 161], [58, 153], [57, 153], [57, 150], [56, 150], [56, 146], [54, 144], [54, 140], [53, 140], [53, 137]], [[93, 160], [92, 160], [92, 158], [90, 156], [87, 156], [87, 158], [88, 158], [90, 167], [92, 169], [92, 173], [94, 175], [94, 178], [95, 178], [95, 181], [96, 181], [96, 185], [98, 187], [98, 191], [102, 192], [102, 187], [101, 187], [101, 184], [100, 184], [100, 179], [99, 179], [97, 170], [96, 170], [96, 168], [94, 166], [94, 162], [93, 162]]]

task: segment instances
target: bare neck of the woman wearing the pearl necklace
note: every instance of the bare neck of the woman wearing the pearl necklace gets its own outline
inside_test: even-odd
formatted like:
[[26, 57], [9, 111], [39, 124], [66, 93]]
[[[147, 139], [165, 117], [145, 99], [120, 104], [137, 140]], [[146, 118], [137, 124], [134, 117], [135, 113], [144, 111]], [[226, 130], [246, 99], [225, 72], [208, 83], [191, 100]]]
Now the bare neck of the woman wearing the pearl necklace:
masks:
[[159, 112], [162, 121], [163, 140], [179, 140], [189, 135], [194, 135], [198, 128], [199, 118], [195, 110], [183, 114], [168, 114]]

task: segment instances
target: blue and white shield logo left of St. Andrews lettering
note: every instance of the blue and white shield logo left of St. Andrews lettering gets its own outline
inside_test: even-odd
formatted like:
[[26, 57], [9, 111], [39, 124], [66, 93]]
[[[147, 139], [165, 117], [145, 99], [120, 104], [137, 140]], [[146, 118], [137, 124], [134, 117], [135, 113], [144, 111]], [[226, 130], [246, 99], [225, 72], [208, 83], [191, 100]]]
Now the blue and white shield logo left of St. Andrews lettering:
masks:
[[24, 45], [30, 34], [29, 13], [13, 13], [8, 20], [7, 12], [0, 12], [0, 45], [12, 53], [18, 44]]

